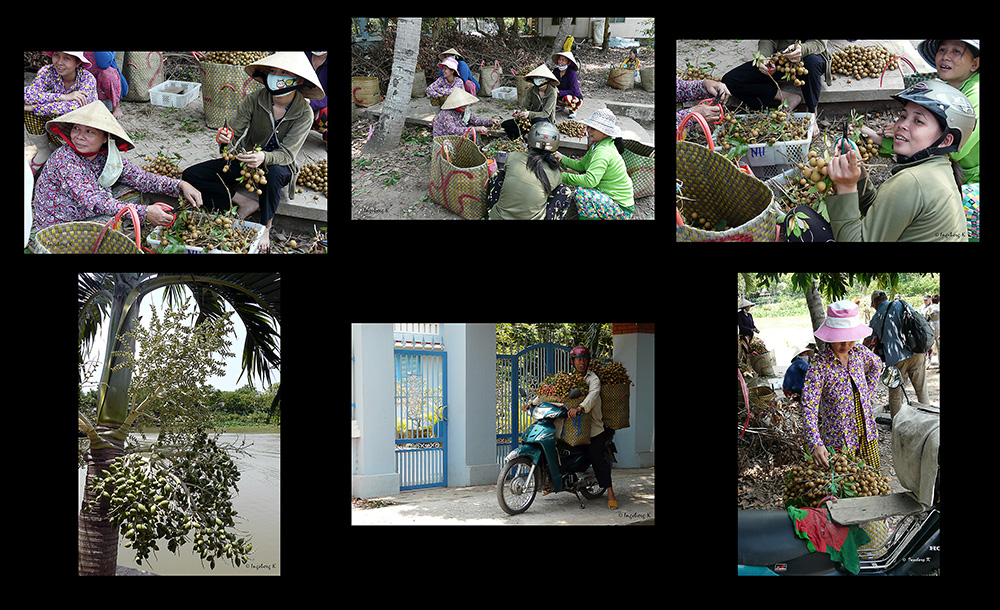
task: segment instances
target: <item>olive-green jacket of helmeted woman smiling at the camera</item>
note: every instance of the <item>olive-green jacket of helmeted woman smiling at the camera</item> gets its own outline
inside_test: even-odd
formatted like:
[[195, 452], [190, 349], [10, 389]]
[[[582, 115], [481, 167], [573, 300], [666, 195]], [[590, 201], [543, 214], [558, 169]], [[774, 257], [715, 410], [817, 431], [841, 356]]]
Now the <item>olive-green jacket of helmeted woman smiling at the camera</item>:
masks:
[[[837, 241], [969, 239], [962, 195], [946, 155], [897, 165], [878, 190], [867, 178], [858, 188], [858, 193], [826, 198]], [[867, 209], [864, 218], [861, 208]]]

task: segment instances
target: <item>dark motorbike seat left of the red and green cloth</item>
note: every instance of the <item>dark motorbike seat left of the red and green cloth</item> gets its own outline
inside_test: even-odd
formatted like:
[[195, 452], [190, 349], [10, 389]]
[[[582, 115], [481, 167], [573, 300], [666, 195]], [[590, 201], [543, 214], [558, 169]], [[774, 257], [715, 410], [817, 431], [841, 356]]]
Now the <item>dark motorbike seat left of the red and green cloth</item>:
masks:
[[772, 565], [809, 554], [805, 540], [795, 535], [783, 510], [741, 510], [737, 530], [738, 563]]

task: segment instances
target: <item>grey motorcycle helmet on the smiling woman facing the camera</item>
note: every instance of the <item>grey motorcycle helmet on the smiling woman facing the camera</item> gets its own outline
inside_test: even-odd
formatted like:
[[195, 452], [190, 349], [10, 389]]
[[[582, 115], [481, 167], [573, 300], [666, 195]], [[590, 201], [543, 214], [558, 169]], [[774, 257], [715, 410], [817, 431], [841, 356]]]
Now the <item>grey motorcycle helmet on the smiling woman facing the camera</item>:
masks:
[[[907, 102], [923, 106], [937, 118], [938, 124], [943, 130], [937, 141], [912, 157], [899, 155], [901, 163], [919, 161], [931, 155], [961, 150], [972, 137], [972, 130], [976, 128], [976, 111], [969, 103], [969, 98], [944, 81], [934, 79], [919, 82], [909, 89], [893, 95], [892, 98], [904, 106]], [[955, 141], [951, 146], [938, 147], [938, 144], [949, 133], [955, 136]]]

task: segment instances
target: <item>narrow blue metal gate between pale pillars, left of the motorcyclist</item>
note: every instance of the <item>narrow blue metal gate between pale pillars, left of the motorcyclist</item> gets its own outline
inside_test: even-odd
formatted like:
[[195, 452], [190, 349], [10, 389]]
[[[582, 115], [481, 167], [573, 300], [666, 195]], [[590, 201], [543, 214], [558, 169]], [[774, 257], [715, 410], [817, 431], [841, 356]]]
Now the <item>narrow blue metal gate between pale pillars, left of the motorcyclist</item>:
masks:
[[448, 485], [448, 355], [397, 349], [396, 472], [399, 488]]

